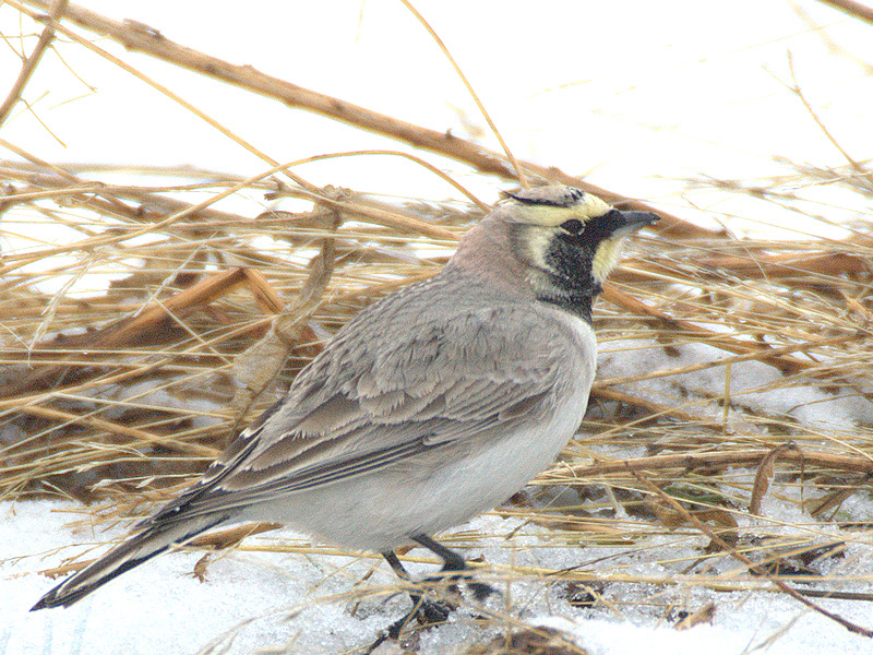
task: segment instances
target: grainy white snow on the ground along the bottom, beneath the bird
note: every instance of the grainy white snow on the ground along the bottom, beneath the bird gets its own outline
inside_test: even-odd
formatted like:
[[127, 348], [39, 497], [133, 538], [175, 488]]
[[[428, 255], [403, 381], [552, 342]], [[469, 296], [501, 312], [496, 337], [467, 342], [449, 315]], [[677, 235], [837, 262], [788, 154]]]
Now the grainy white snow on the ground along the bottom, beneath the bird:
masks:
[[[70, 608], [28, 612], [40, 594], [55, 584], [35, 571], [65, 561], [82, 549], [86, 537], [95, 544], [105, 543], [121, 531], [92, 534], [87, 528], [71, 528], [75, 515], [70, 512], [76, 508], [65, 503], [3, 503], [2, 511], [3, 655], [200, 653], [208, 652], [208, 647], [240, 654], [344, 653], [369, 643], [408, 607], [408, 600], [400, 596], [386, 599], [375, 593], [390, 590], [394, 582], [385, 564], [362, 581], [376, 561], [371, 558], [234, 550], [216, 557], [206, 569], [204, 582], [191, 574], [202, 553], [175, 552], [128, 572]], [[588, 549], [555, 548], [537, 537], [524, 536], [524, 529], [518, 537], [521, 527], [518, 520], [486, 515], [458, 529], [495, 535], [478, 536], [468, 555], [483, 556], [498, 571], [510, 563], [561, 569], [594, 559]], [[506, 537], [512, 533], [516, 536], [510, 548]], [[304, 536], [282, 531], [250, 538], [246, 547], [307, 543]], [[636, 556], [622, 556], [620, 548], [598, 549], [597, 558], [605, 557], [607, 550], [615, 556], [611, 565], [595, 567], [605, 580], [623, 570], [624, 560], [632, 562], [627, 572], [637, 575], [665, 573], [662, 565], [646, 563], [645, 558], [633, 562]], [[846, 558], [847, 567], [859, 573], [868, 571], [873, 563], [871, 545], [856, 544], [853, 550]], [[681, 541], [673, 543], [670, 551], [678, 559], [693, 559], [699, 552]], [[491, 580], [502, 591], [486, 603], [482, 614], [506, 616], [513, 624], [558, 628], [591, 654], [627, 653], [642, 642], [654, 654], [691, 655], [705, 645], [705, 652], [714, 655], [737, 655], [770, 641], [767, 653], [777, 655], [811, 653], [813, 648], [820, 653], [873, 653], [870, 640], [785, 594], [713, 594], [691, 585], [683, 588], [681, 575], [677, 575], [677, 586], [669, 592], [677, 609], [682, 608], [683, 599], [693, 610], [711, 598], [717, 610], [711, 624], [675, 631], [663, 626], [659, 616], [663, 607], [657, 603], [663, 591], [654, 584], [612, 583], [605, 592], [606, 607], [581, 609], [566, 602], [560, 585], [543, 580], [522, 579], [506, 587], [499, 573], [483, 573], [480, 579]], [[859, 586], [870, 591], [871, 585]], [[506, 598], [511, 598], [509, 608]], [[865, 603], [816, 603], [860, 624], [869, 622]], [[473, 614], [479, 611], [475, 602], [468, 600], [447, 624], [422, 632], [421, 652], [457, 653], [465, 643], [481, 640], [481, 631], [473, 622]], [[219, 645], [222, 650], [217, 650]], [[385, 644], [379, 652], [396, 652], [395, 647]]]

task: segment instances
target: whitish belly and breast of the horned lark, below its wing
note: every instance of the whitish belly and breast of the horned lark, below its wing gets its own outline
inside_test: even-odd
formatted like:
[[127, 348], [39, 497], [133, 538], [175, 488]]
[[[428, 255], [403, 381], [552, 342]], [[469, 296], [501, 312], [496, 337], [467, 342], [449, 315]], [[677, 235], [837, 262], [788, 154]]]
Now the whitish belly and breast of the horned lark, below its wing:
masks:
[[595, 352], [590, 326], [561, 312], [584, 354], [578, 376], [551, 416], [495, 439], [464, 457], [457, 446], [416, 455], [403, 466], [306, 490], [252, 508], [250, 519], [278, 521], [354, 549], [383, 551], [418, 534], [464, 523], [518, 491], [546, 469], [576, 432], [588, 404]]

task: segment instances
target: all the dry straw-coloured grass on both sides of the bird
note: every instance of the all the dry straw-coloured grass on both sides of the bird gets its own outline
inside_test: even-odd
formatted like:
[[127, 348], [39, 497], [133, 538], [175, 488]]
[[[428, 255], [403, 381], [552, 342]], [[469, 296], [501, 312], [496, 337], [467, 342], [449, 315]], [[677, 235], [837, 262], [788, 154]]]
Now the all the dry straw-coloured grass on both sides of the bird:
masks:
[[[384, 131], [411, 140], [393, 130]], [[459, 143], [453, 138], [453, 147]], [[449, 154], [480, 165], [465, 153]], [[96, 501], [105, 520], [147, 512], [196, 476], [287, 388], [325, 335], [379, 297], [434, 274], [481, 215], [469, 201], [387, 204], [315, 189], [289, 181], [280, 167], [247, 180], [135, 164], [53, 166], [19, 154], [28, 163], [0, 163], [0, 499]], [[570, 181], [522, 165], [536, 181]], [[827, 184], [870, 206], [873, 184], [858, 166], [806, 167], [785, 188]], [[808, 218], [827, 214], [776, 183], [705, 183]], [[297, 199], [301, 211], [268, 210], [279, 198]], [[558, 546], [645, 548], [653, 536], [704, 534], [709, 547], [681, 562], [682, 581], [718, 590], [768, 584], [746, 564], [729, 581], [695, 569], [726, 550], [789, 576], [801, 570], [797, 562], [841, 552], [846, 539], [828, 541], [824, 527], [846, 527], [841, 504], [870, 491], [873, 426], [835, 433], [723, 392], [653, 397], [632, 386], [660, 379], [682, 389], [687, 376], [719, 367], [729, 389], [731, 367], [758, 360], [780, 373], [768, 393], [812, 385], [870, 403], [873, 235], [869, 224], [841, 228], [848, 236], [753, 240], [663, 221], [613, 275], [597, 307], [599, 338], [612, 349], [705, 344], [729, 359], [601, 378], [586, 437], [538, 480], [541, 493], [569, 487], [582, 502], [555, 508], [522, 495], [501, 513]], [[617, 454], [631, 449], [632, 458]], [[799, 502], [814, 523], [788, 532], [739, 527], [774, 492], [773, 480], [803, 489]], [[851, 527], [859, 541], [869, 538], [869, 525]], [[661, 557], [669, 555], [653, 553]], [[505, 573], [574, 588], [602, 583], [582, 569]], [[621, 570], [609, 579], [661, 587], [679, 580]]]

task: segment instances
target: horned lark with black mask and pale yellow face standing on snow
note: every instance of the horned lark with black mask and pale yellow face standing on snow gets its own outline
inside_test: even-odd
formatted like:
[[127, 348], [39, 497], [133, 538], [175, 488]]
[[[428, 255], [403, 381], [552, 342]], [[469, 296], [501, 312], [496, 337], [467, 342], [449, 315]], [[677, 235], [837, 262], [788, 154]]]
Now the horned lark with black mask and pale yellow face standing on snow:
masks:
[[[395, 550], [409, 545], [465, 574], [432, 535], [505, 501], [577, 431], [596, 368], [593, 302], [624, 238], [657, 221], [563, 184], [507, 193], [436, 275], [358, 313], [199, 480], [32, 609], [72, 605], [247, 521], [381, 553], [407, 581]], [[445, 616], [410, 596], [388, 636], [414, 616]]]

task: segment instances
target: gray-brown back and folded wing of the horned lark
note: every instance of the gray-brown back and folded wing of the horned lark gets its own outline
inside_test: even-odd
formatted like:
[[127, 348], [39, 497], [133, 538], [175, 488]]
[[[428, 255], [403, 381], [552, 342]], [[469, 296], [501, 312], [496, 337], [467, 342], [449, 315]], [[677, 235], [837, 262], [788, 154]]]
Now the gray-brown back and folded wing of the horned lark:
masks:
[[244, 507], [511, 429], [548, 413], [573, 374], [593, 373], [578, 335], [549, 311], [432, 313], [350, 324], [176, 508]]

